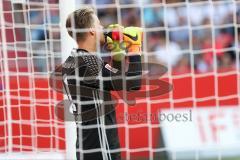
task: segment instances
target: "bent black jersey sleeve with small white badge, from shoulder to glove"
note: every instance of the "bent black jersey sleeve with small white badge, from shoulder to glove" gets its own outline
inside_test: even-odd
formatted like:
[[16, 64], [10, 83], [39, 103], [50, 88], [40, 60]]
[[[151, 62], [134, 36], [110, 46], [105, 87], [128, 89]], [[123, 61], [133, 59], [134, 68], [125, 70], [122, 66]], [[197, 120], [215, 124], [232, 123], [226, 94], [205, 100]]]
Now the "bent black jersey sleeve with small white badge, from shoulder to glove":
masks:
[[81, 85], [103, 90], [138, 90], [141, 87], [141, 56], [129, 56], [125, 61], [104, 63], [96, 55], [80, 57], [79, 76]]

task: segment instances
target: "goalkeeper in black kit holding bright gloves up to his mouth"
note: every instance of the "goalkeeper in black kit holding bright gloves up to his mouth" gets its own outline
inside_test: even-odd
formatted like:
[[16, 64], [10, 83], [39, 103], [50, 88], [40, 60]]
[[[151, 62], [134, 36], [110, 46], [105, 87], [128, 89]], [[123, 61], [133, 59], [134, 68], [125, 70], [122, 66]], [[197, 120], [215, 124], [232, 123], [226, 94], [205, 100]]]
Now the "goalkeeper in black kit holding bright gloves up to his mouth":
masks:
[[[117, 124], [115, 103], [110, 91], [140, 89], [142, 31], [137, 27], [110, 25], [104, 34], [92, 8], [71, 13], [66, 27], [78, 44], [62, 70], [67, 77], [65, 89], [75, 106], [74, 114], [81, 115], [75, 119], [76, 157], [78, 160], [121, 160], [117, 127], [114, 126]], [[107, 46], [111, 53], [110, 64], [96, 54], [98, 45]], [[127, 77], [138, 78], [126, 80]]]

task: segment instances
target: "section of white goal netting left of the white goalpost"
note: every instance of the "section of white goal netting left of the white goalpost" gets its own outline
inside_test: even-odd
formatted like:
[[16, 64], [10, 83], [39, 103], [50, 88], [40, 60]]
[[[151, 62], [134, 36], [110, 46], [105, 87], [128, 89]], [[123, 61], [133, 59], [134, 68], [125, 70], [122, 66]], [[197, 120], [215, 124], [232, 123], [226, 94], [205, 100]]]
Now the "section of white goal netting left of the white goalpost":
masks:
[[29, 155], [41, 152], [64, 157], [64, 123], [54, 113], [62, 95], [48, 81], [61, 63], [58, 1], [0, 3], [1, 158], [46, 157]]

